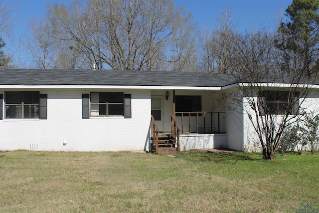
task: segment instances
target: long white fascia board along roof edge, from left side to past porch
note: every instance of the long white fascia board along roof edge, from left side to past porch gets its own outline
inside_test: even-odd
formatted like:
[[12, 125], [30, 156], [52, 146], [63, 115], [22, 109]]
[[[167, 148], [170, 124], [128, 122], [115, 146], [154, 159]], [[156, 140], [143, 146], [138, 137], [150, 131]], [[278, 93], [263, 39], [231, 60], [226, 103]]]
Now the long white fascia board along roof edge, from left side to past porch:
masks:
[[193, 86], [121, 86], [121, 85], [0, 85], [0, 89], [164, 89], [164, 90], [221, 90], [221, 87]]

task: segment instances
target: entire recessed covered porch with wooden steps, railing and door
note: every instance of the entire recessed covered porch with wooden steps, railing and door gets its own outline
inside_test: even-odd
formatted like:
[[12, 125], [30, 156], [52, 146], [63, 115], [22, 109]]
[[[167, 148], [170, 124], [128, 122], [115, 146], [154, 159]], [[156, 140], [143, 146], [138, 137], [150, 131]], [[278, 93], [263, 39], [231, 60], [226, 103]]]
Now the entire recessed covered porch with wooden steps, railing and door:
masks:
[[227, 148], [223, 95], [206, 90], [152, 91], [150, 151], [166, 155]]

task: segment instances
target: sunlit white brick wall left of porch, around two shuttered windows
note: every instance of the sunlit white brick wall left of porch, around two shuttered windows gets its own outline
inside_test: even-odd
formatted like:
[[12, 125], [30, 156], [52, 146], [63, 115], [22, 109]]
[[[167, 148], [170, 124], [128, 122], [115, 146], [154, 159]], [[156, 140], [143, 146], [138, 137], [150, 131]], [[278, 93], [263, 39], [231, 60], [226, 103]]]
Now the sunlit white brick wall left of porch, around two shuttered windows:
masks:
[[[47, 94], [46, 120], [5, 119], [3, 100], [0, 150], [147, 150], [150, 140], [151, 91], [116, 91], [132, 94], [132, 118], [82, 119], [82, 94], [92, 91], [40, 90], [40, 94]], [[4, 94], [4, 91], [0, 93]]]

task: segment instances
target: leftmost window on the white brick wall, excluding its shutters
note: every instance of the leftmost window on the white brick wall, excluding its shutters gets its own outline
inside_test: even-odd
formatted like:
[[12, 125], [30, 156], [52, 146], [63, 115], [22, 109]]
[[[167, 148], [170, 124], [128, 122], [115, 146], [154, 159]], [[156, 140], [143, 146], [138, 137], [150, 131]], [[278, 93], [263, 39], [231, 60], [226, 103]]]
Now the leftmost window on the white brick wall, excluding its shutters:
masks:
[[5, 118], [39, 118], [39, 92], [5, 92]]

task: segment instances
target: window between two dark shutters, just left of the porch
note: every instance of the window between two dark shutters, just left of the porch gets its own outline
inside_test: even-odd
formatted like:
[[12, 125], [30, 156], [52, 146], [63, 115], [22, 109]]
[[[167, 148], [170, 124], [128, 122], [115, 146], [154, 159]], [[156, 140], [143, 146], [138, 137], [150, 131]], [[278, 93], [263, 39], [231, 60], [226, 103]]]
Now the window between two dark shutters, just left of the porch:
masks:
[[124, 93], [91, 92], [91, 116], [124, 116]]

